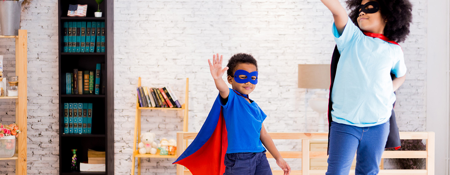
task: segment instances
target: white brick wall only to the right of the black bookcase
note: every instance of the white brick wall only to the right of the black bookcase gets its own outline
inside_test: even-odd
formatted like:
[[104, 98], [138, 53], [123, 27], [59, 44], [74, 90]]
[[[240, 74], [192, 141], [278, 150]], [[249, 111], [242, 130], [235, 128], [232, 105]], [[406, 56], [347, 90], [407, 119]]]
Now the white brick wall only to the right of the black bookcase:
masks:
[[[401, 44], [408, 67], [397, 95], [401, 131], [425, 129], [427, 2], [412, 2], [411, 35]], [[181, 90], [182, 80], [189, 78], [189, 131], [198, 131], [217, 96], [207, 64], [214, 53], [225, 55], [224, 65], [234, 53], [251, 53], [257, 59], [260, 81], [250, 97], [268, 114], [268, 131], [317, 131], [318, 114], [306, 105], [315, 90], [297, 88], [297, 64], [330, 61], [333, 18], [320, 0], [116, 0], [114, 6], [118, 174], [130, 172], [133, 140], [124, 135], [134, 129], [137, 77], [144, 86], [171, 83]], [[174, 115], [145, 111], [142, 131], [175, 137], [174, 130], [182, 129], [181, 117], [166, 117]], [[300, 148], [298, 143], [276, 144], [280, 150]], [[144, 158], [142, 171], [173, 175], [172, 161]], [[293, 165], [298, 161], [289, 161], [300, 168]]]

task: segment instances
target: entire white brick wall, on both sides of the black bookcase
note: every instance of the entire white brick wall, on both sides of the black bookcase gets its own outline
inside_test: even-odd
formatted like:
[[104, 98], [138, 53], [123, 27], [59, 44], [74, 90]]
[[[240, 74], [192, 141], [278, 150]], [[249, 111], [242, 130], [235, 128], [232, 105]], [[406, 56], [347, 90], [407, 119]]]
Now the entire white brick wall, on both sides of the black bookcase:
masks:
[[[412, 0], [414, 23], [401, 44], [408, 67], [397, 93], [401, 131], [424, 131], [427, 1]], [[217, 90], [207, 59], [213, 53], [252, 53], [260, 83], [250, 95], [269, 115], [268, 131], [316, 131], [317, 113], [306, 104], [315, 90], [297, 88], [297, 64], [327, 64], [333, 50], [331, 13], [319, 0], [116, 0], [115, 171], [130, 173], [137, 77], [145, 86], [172, 85], [184, 94], [189, 78], [189, 131], [198, 131]], [[33, 0], [22, 12], [28, 30], [28, 174], [58, 174], [58, 4]], [[14, 75], [14, 40], [1, 39], [7, 75]], [[184, 99], [182, 99], [184, 100]], [[13, 101], [0, 102], [1, 122], [14, 122]], [[143, 131], [174, 138], [182, 113], [144, 111]], [[275, 142], [280, 150], [299, 143]], [[150, 175], [175, 175], [173, 159], [143, 159]], [[298, 160], [288, 160], [299, 164]], [[0, 162], [0, 175], [14, 174]], [[272, 163], [272, 166], [273, 163]], [[49, 168], [50, 167], [50, 168]], [[274, 167], [276, 168], [276, 167]]]

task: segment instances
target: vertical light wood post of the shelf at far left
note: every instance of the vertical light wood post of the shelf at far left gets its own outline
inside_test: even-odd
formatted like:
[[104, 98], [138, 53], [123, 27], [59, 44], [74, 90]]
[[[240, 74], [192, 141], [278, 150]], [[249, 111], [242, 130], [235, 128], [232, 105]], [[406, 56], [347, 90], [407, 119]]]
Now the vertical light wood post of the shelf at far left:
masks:
[[27, 30], [19, 30], [16, 38], [16, 75], [19, 77], [16, 123], [21, 133], [17, 138], [16, 175], [27, 174], [27, 63]]

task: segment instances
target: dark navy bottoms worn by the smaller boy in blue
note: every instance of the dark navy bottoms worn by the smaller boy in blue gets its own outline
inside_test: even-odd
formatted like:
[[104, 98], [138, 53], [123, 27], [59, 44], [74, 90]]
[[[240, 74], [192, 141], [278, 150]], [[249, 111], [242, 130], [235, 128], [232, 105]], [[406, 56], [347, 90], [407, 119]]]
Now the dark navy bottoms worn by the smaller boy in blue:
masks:
[[266, 150], [260, 153], [225, 154], [223, 175], [272, 175]]

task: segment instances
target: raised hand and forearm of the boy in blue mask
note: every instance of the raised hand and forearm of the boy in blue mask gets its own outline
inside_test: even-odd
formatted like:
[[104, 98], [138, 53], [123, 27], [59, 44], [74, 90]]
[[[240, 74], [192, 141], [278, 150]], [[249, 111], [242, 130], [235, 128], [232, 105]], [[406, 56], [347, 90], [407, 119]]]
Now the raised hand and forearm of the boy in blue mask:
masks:
[[216, 88], [219, 90], [220, 96], [222, 98], [228, 98], [229, 95], [229, 88], [226, 85], [225, 81], [222, 79], [222, 76], [224, 75], [225, 71], [228, 70], [228, 67], [225, 67], [222, 69], [222, 59], [223, 55], [220, 55], [219, 59], [219, 53], [212, 56], [212, 64], [211, 60], [208, 59], [209, 63], [209, 70], [211, 70], [212, 78], [214, 79], [214, 83], [216, 83]]

